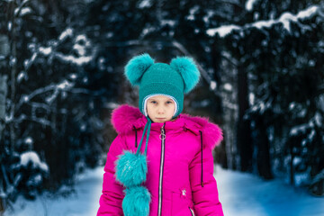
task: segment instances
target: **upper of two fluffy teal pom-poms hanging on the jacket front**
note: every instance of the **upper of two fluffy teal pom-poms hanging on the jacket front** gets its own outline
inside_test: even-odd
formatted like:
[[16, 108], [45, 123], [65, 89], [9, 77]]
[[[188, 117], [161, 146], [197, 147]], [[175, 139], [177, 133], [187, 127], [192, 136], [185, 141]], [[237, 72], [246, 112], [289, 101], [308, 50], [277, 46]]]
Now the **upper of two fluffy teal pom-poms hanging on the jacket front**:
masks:
[[148, 166], [146, 155], [125, 150], [116, 160], [116, 180], [126, 187], [146, 181]]

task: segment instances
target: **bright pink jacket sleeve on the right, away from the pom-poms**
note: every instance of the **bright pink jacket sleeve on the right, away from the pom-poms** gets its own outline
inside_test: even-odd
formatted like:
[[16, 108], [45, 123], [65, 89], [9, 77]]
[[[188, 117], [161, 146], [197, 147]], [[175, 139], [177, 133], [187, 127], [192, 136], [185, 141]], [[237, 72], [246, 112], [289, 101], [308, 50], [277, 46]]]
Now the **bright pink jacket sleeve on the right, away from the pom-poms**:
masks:
[[217, 184], [213, 176], [211, 148], [202, 148], [195, 155], [189, 166], [189, 175], [196, 215], [223, 216]]

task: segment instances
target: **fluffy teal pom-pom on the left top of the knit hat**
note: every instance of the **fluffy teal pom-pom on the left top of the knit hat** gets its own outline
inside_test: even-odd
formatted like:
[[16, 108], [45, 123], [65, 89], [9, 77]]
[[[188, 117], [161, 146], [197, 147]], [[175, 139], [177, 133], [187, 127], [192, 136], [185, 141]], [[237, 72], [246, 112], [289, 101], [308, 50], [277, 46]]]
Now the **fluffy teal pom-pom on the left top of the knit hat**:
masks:
[[154, 64], [154, 59], [147, 53], [131, 58], [125, 67], [125, 75], [131, 85], [140, 85], [140, 79], [145, 71]]

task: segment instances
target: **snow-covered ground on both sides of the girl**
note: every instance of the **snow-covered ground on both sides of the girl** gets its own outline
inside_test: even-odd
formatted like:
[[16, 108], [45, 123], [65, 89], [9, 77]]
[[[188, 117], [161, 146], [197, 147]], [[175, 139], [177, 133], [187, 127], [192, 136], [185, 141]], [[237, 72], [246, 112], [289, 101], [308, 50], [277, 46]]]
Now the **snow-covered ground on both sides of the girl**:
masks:
[[[215, 166], [220, 202], [229, 216], [324, 215], [324, 197], [313, 197], [280, 180], [264, 181], [255, 175], [223, 170]], [[76, 193], [67, 198], [42, 195], [36, 201], [20, 198], [14, 211], [4, 216], [90, 216], [98, 209], [103, 167], [88, 170], [79, 178]]]

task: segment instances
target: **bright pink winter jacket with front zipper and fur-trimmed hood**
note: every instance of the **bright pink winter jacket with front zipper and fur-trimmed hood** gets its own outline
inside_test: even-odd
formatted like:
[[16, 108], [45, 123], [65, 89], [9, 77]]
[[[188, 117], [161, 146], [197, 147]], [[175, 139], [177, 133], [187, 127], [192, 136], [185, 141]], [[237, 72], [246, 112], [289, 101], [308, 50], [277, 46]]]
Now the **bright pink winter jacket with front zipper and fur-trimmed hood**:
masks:
[[[136, 151], [146, 122], [139, 109], [129, 105], [112, 112], [118, 136], [107, 154], [97, 216], [123, 215], [124, 188], [115, 180], [114, 162], [124, 149]], [[163, 146], [159, 139], [163, 124], [152, 122], [148, 139], [149, 215], [156, 216], [158, 208], [162, 216], [223, 215], [211, 154], [222, 139], [220, 128], [204, 118], [180, 114], [175, 121], [165, 122]]]

